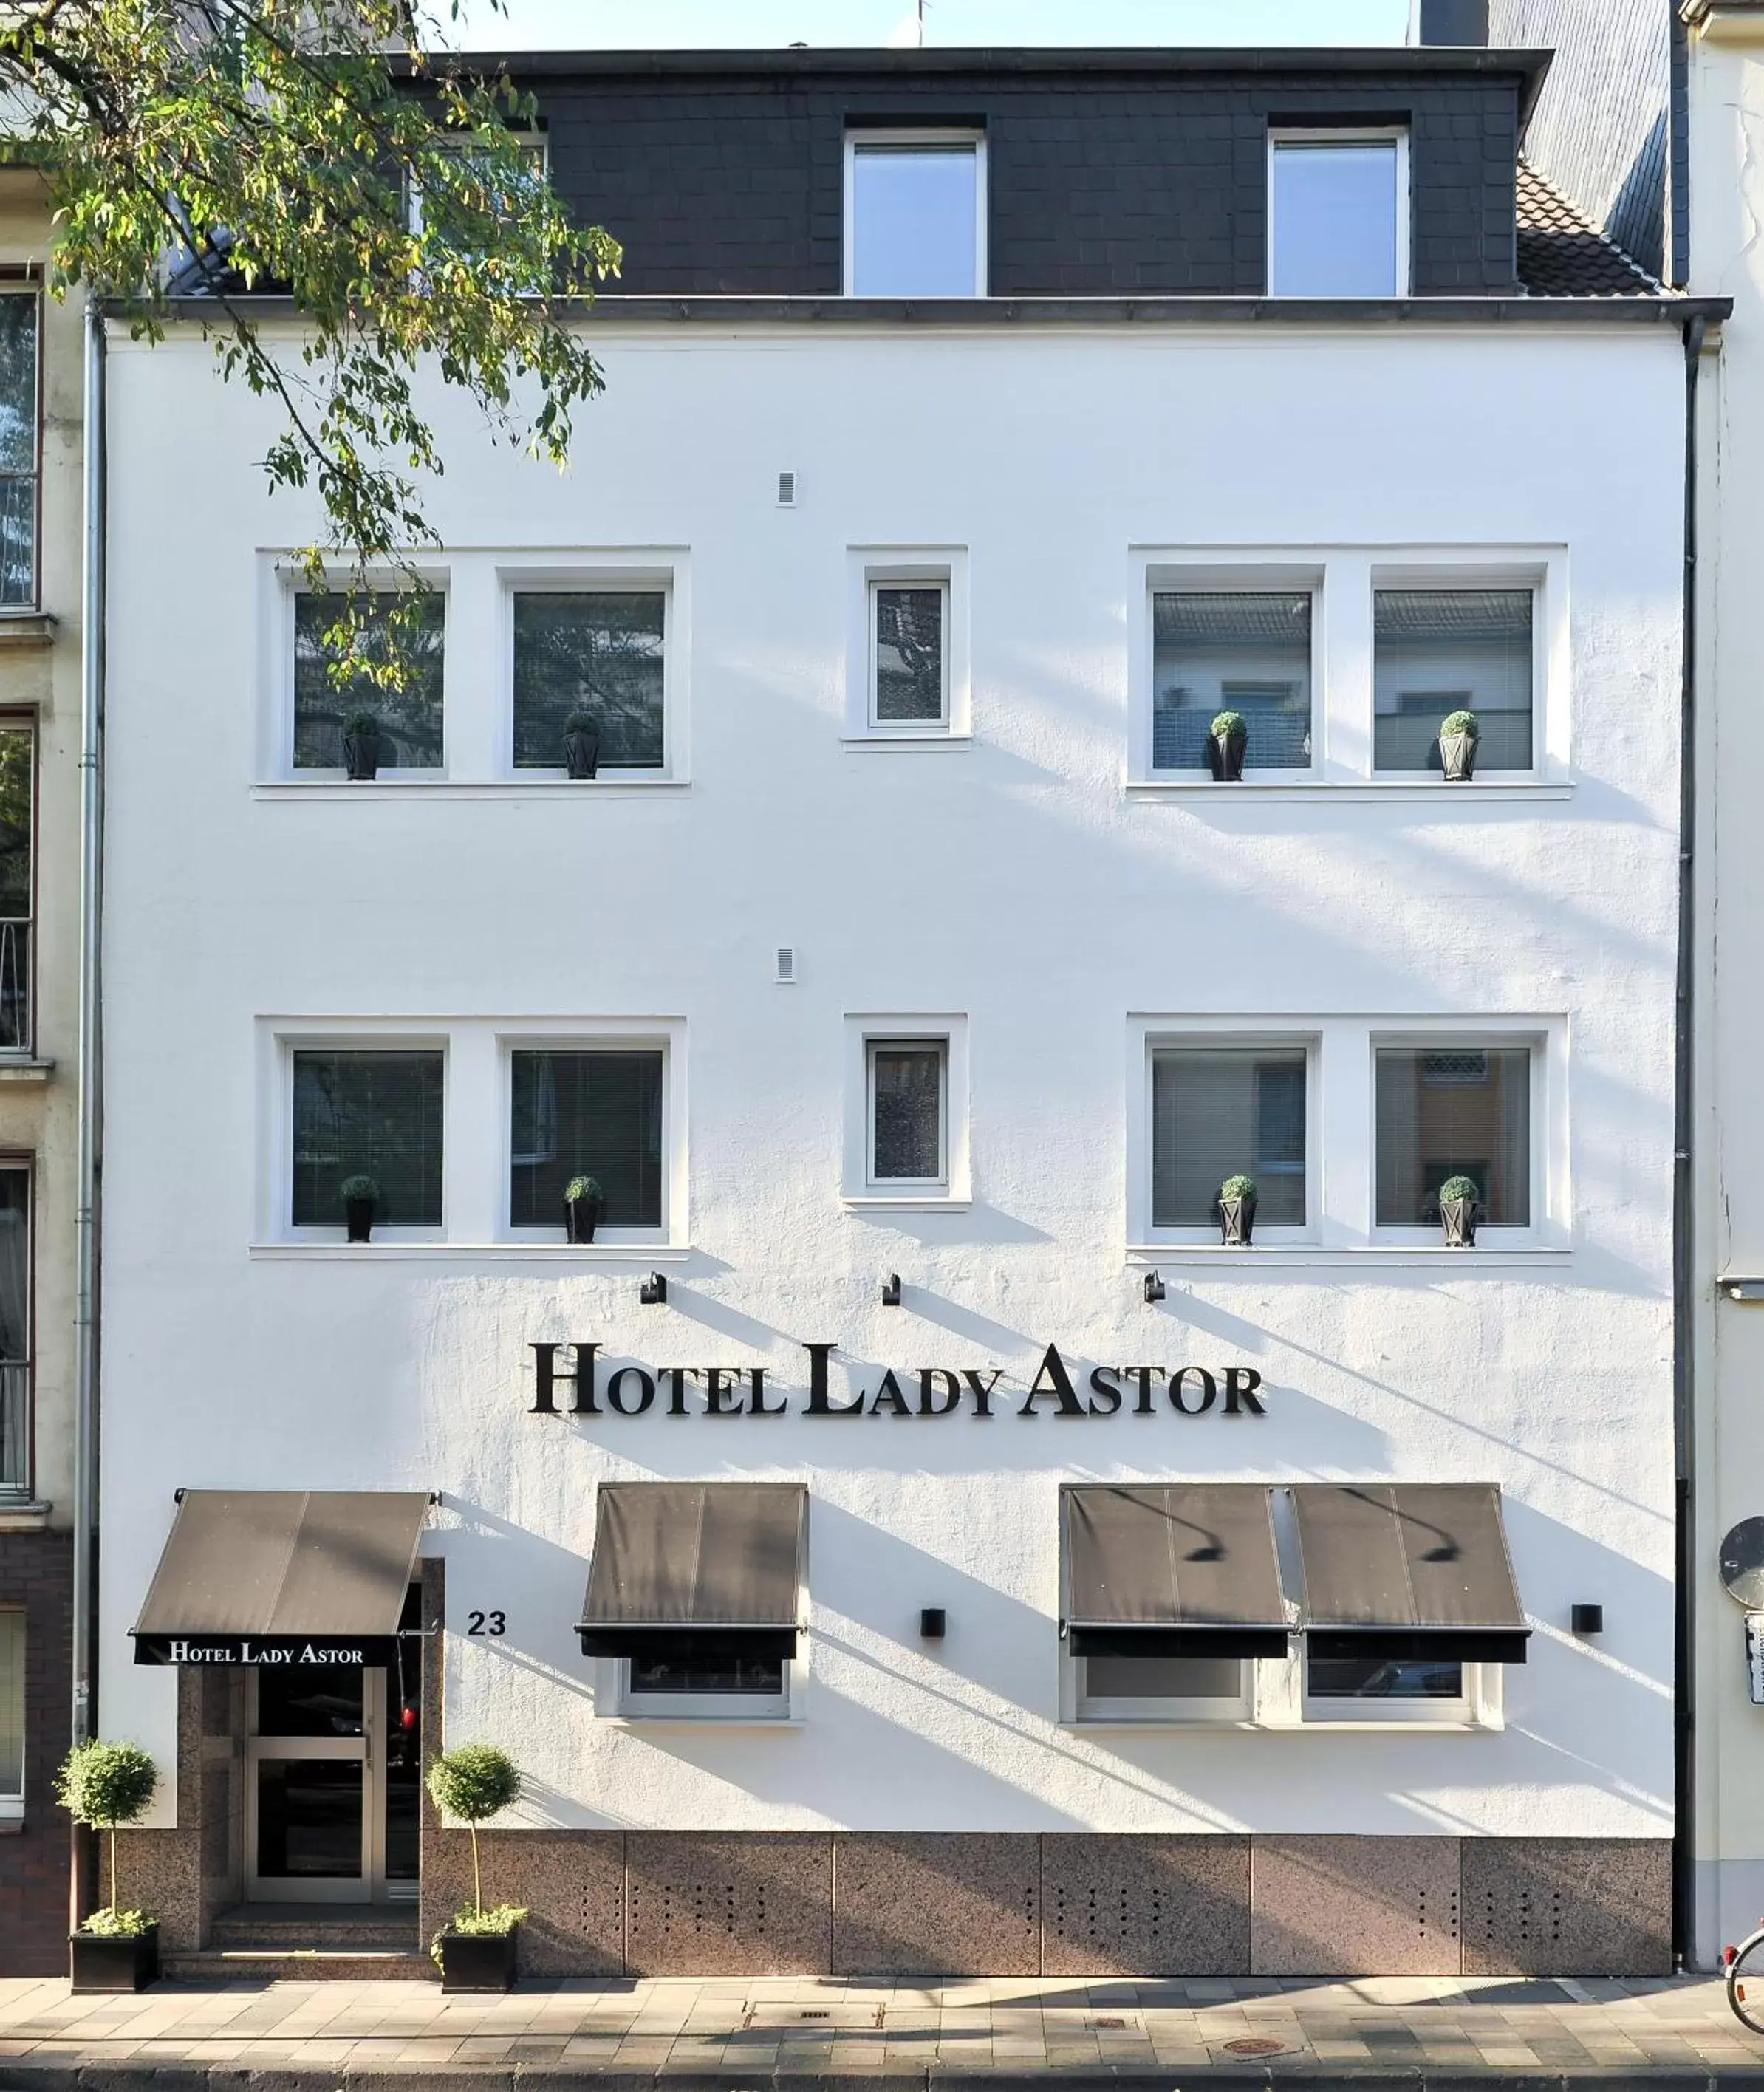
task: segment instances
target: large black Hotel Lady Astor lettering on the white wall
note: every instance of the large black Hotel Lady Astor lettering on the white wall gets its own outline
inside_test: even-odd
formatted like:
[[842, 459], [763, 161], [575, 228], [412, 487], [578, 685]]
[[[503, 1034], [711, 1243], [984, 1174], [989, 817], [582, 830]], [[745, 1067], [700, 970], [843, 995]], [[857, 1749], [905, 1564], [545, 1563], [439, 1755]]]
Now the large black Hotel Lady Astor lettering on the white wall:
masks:
[[766, 1366], [638, 1366], [598, 1343], [536, 1343], [529, 1416], [1266, 1416], [1253, 1366], [1096, 1366], [1050, 1343], [1027, 1383], [1002, 1366], [889, 1366], [835, 1395], [831, 1343], [806, 1343], [797, 1387]]

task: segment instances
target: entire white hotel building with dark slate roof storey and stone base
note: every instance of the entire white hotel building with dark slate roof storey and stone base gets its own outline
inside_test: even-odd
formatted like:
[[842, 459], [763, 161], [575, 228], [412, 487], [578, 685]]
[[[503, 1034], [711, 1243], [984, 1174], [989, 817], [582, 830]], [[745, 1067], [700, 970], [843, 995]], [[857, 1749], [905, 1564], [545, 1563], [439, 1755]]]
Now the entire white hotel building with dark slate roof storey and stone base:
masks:
[[[494, 1741], [534, 1971], [1668, 1966], [1682, 345], [1477, 245], [1542, 61], [596, 67], [607, 393], [548, 475], [437, 389], [377, 776], [264, 410], [109, 343], [167, 1948], [414, 1948]], [[1067, 180], [1201, 119], [1218, 253]], [[678, 230], [703, 126], [801, 241]]]

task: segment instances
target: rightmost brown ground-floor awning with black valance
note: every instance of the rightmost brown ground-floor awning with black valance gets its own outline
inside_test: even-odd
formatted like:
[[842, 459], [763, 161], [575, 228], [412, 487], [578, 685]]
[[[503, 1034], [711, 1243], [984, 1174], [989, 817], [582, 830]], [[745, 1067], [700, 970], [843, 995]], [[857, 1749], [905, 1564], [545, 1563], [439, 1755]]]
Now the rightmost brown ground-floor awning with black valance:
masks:
[[1494, 1483], [1302, 1483], [1293, 1510], [1314, 1657], [1525, 1661]]

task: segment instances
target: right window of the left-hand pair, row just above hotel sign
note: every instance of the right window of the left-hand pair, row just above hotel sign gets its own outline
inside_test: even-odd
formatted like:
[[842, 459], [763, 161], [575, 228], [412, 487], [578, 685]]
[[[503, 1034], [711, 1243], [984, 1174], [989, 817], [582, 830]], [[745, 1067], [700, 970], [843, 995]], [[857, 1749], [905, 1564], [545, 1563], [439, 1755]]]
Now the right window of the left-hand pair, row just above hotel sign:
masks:
[[642, 1052], [515, 1052], [508, 1220], [561, 1228], [563, 1188], [601, 1186], [607, 1228], [661, 1226], [661, 1063]]

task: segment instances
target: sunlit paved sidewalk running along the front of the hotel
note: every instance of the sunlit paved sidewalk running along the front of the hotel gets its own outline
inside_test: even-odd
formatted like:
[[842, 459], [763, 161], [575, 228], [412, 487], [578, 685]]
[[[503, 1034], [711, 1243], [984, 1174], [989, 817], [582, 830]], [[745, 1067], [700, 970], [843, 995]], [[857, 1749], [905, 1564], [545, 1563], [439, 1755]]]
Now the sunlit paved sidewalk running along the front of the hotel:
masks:
[[1764, 2040], [1733, 2019], [1714, 1977], [670, 1977], [527, 1983], [506, 1998], [341, 1981], [73, 1998], [65, 1981], [0, 1981], [6, 2092], [341, 2092], [387, 2079], [423, 2092], [757, 2092], [781, 2077], [910, 2092], [973, 2075], [1046, 2092], [1122, 2077], [1147, 2092], [1270, 2077], [1764, 2092]]

